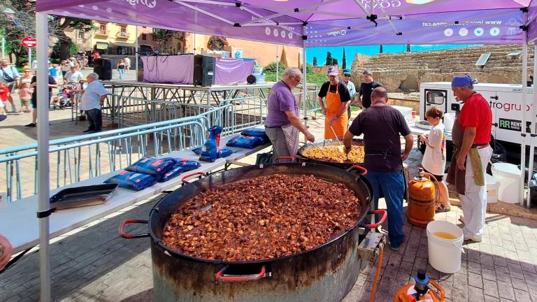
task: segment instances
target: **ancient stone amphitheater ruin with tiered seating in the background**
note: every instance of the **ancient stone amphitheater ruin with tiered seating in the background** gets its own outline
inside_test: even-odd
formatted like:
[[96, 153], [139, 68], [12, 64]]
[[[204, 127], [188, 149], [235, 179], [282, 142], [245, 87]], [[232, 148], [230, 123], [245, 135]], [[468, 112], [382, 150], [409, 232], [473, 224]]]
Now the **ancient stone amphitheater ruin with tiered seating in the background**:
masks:
[[[534, 47], [528, 47], [528, 74], [533, 74]], [[373, 57], [356, 55], [352, 63], [355, 82], [364, 69], [373, 71], [373, 78], [382, 82], [389, 92], [418, 91], [421, 82], [451, 81], [454, 75], [469, 74], [479, 82], [522, 83], [522, 45], [485, 45], [429, 52], [380, 54]], [[475, 66], [480, 55], [490, 52], [487, 64]], [[324, 71], [325, 72], [325, 71]]]

